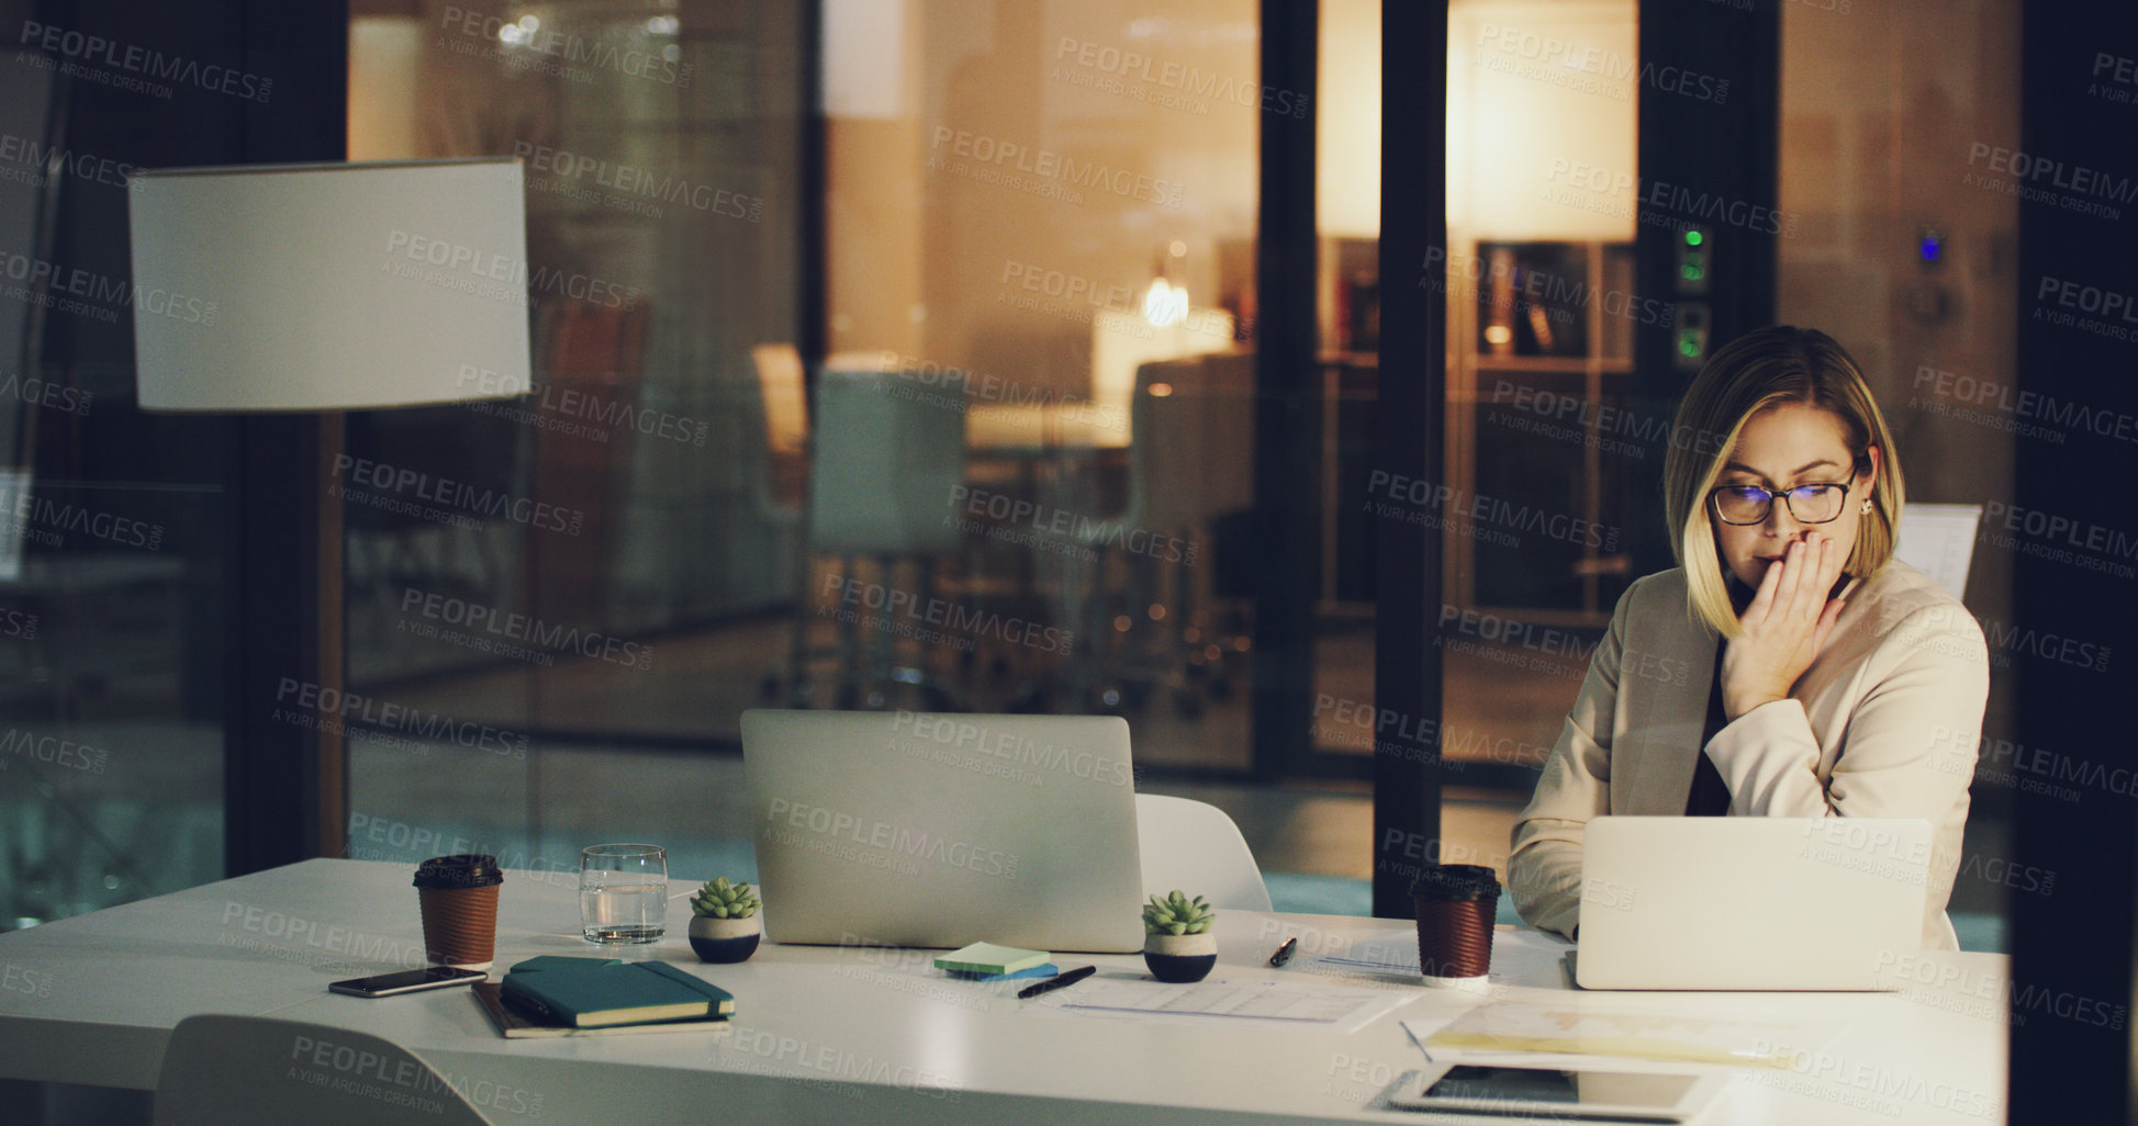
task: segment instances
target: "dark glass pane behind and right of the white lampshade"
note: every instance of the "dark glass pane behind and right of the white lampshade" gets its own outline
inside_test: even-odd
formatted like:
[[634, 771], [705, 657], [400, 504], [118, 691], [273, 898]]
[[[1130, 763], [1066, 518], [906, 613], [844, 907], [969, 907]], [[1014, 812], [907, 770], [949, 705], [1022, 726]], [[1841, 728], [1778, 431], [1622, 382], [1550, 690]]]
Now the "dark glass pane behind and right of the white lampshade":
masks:
[[569, 870], [599, 838], [746, 872], [706, 853], [748, 855], [740, 763], [701, 752], [795, 590], [753, 350], [797, 338], [812, 269], [802, 15], [353, 4], [348, 156], [520, 156], [534, 333], [522, 400], [348, 419], [353, 857]]

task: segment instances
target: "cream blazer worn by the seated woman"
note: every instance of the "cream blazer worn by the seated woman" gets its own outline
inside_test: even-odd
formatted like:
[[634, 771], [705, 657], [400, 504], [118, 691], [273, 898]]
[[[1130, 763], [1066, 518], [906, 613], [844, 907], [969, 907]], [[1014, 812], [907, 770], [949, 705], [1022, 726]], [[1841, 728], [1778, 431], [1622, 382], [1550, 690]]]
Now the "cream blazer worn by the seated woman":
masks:
[[1514, 823], [1507, 885], [1522, 919], [1571, 936], [1589, 818], [1683, 814], [1704, 750], [1730, 786], [1730, 816], [1928, 820], [1922, 944], [1958, 949], [1946, 902], [1988, 699], [1982, 626], [1899, 560], [1843, 596], [1841, 620], [1790, 697], [1738, 716], [1706, 748], [1719, 639], [1693, 620], [1685, 570], [1648, 575], [1618, 598], [1537, 793]]

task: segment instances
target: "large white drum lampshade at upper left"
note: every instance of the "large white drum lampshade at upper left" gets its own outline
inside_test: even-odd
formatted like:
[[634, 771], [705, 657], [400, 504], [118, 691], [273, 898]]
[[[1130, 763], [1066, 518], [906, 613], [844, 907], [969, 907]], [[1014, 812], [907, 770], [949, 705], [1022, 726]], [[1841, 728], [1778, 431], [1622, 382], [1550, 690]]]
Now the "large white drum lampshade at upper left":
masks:
[[133, 177], [143, 410], [357, 410], [528, 391], [515, 158]]

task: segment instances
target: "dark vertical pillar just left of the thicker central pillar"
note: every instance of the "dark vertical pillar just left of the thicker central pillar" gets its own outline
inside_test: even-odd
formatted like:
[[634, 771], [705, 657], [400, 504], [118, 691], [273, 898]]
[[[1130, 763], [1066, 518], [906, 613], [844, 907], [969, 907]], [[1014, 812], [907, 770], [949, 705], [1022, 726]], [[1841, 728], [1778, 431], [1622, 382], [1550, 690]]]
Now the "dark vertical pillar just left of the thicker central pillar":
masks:
[[[1317, 0], [1261, 0], [1264, 88], [1313, 92]], [[1255, 773], [1304, 763], [1313, 726], [1321, 543], [1321, 380], [1315, 342], [1315, 115], [1257, 113], [1255, 244]]]

